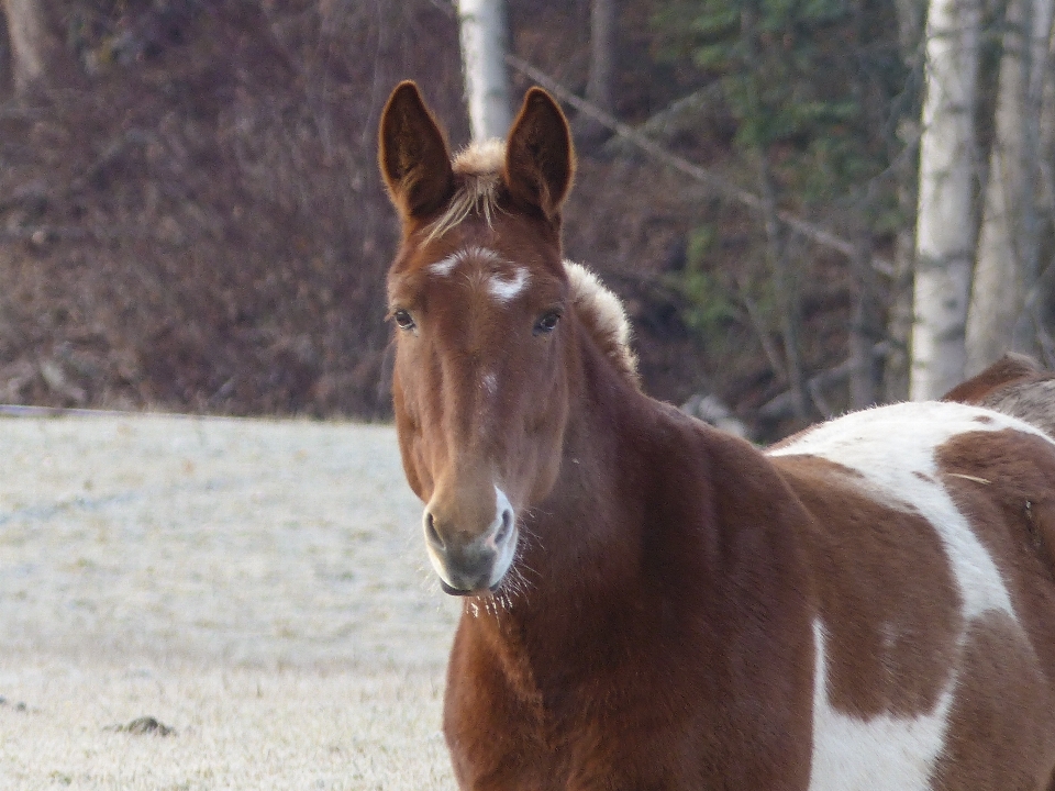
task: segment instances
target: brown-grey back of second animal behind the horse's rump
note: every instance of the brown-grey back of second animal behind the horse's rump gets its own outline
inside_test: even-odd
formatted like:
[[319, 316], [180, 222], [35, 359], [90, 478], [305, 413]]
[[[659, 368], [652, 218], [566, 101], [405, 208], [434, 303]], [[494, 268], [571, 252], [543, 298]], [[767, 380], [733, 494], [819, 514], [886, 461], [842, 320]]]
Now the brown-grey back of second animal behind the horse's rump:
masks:
[[1055, 374], [1023, 355], [1006, 354], [981, 374], [949, 390], [942, 400], [1014, 415], [1055, 437]]

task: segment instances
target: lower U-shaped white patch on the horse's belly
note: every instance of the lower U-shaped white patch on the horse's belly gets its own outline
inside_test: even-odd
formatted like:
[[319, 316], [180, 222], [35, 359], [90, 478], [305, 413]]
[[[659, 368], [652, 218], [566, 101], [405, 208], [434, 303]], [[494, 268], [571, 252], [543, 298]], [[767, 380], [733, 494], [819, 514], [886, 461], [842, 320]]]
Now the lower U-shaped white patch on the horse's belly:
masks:
[[828, 699], [824, 627], [813, 622], [813, 759], [809, 791], [869, 789], [926, 791], [941, 756], [953, 703], [955, 675], [934, 710], [914, 717], [880, 714], [859, 720], [836, 711]]

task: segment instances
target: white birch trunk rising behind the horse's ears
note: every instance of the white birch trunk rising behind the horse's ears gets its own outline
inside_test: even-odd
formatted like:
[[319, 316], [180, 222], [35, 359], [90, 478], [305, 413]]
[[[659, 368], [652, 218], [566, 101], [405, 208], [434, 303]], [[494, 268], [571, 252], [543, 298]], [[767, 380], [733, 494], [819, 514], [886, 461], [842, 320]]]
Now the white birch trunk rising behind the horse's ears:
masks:
[[512, 125], [504, 0], [458, 0], [462, 62], [474, 142], [504, 137]]

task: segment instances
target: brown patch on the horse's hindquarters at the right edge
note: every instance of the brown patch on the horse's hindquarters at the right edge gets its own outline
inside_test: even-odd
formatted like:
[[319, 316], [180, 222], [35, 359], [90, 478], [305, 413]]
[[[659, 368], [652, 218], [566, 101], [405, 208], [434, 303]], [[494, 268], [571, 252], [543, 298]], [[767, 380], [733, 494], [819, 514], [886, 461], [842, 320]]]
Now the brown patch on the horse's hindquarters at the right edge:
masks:
[[[1055, 781], [1055, 445], [1010, 430], [962, 434], [937, 465], [1018, 622], [991, 612], [971, 623], [936, 778], [949, 789], [1045, 788]], [[982, 745], [992, 757], [978, 757]]]

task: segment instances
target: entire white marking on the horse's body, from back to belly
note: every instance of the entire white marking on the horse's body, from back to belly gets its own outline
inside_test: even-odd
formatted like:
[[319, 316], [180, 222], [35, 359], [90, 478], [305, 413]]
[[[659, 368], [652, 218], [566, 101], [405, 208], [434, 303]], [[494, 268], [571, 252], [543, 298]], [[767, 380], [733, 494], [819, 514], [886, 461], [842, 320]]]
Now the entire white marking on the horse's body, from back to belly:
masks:
[[[979, 417], [986, 417], [979, 421]], [[917, 513], [940, 536], [963, 601], [962, 647], [970, 621], [1006, 612], [1018, 622], [992, 556], [942, 482], [936, 453], [959, 434], [1014, 430], [1044, 436], [1015, 417], [958, 403], [901, 403], [848, 414], [806, 432], [771, 456], [808, 455], [855, 470], [863, 487], [889, 508]], [[881, 627], [884, 639], [892, 625]], [[933, 711], [915, 717], [889, 714], [860, 720], [828, 700], [823, 625], [814, 622], [817, 667], [813, 695], [813, 769], [810, 791], [829, 789], [929, 789], [930, 772], [944, 748], [955, 698], [957, 667], [949, 668]], [[958, 653], [958, 651], [957, 651]]]

